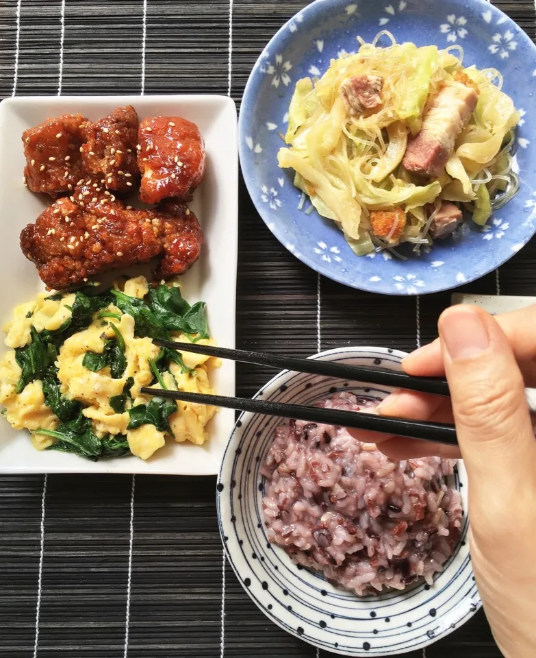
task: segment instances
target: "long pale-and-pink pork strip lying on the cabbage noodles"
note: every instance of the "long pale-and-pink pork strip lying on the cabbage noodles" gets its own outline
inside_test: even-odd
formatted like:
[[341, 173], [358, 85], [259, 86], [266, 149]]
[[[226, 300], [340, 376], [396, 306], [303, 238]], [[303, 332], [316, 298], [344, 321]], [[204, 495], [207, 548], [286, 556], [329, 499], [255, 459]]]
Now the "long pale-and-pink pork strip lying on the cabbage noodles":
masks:
[[404, 167], [414, 173], [440, 176], [477, 102], [473, 88], [460, 82], [445, 85], [424, 114], [420, 132], [409, 138]]

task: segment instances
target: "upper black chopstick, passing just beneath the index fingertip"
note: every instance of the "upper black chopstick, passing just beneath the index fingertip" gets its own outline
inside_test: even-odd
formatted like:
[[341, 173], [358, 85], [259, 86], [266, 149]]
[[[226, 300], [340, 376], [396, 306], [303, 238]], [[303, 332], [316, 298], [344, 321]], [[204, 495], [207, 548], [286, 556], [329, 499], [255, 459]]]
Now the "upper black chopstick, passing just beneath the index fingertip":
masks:
[[317, 358], [278, 356], [277, 354], [250, 352], [249, 350], [229, 350], [228, 348], [216, 348], [214, 345], [200, 345], [199, 343], [178, 343], [175, 341], [161, 340], [155, 340], [153, 343], [162, 348], [172, 348], [180, 352], [194, 352], [194, 354], [205, 354], [205, 356], [230, 358], [233, 361], [268, 365], [280, 370], [307, 372], [314, 375], [348, 379], [353, 382], [367, 382], [368, 384], [419, 391], [420, 393], [434, 393], [435, 395], [444, 395], [445, 397], [450, 395], [448, 383], [436, 377], [411, 377], [405, 374], [405, 372], [396, 370], [348, 365], [347, 363], [337, 363], [334, 361], [320, 361]]

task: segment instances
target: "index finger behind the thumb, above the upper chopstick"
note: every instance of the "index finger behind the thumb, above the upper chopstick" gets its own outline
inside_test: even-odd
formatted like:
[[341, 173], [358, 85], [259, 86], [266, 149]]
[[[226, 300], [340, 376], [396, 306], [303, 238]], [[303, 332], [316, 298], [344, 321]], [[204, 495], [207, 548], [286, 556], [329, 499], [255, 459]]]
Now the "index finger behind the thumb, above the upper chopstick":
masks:
[[[536, 304], [495, 316], [513, 349], [525, 383], [536, 387]], [[435, 339], [406, 356], [403, 369], [417, 377], [442, 377], [445, 374], [441, 343]]]

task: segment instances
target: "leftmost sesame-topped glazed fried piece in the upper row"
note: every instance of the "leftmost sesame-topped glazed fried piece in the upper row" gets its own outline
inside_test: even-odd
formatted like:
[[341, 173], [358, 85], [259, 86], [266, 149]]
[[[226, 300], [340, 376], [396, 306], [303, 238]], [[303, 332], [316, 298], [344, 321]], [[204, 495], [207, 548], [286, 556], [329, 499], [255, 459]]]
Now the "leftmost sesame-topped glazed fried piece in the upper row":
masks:
[[23, 132], [24, 177], [32, 192], [55, 198], [73, 189], [81, 175], [81, 125], [86, 121], [81, 114], [62, 114]]

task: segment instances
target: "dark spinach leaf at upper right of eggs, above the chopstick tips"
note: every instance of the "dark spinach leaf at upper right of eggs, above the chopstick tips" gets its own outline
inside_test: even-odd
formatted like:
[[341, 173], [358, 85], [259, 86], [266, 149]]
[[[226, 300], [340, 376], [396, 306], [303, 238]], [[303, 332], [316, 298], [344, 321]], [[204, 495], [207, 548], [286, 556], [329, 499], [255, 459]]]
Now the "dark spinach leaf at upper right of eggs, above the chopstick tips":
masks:
[[149, 297], [151, 308], [168, 331], [195, 334], [196, 341], [209, 337], [204, 302], [190, 306], [183, 299], [179, 288], [164, 285], [151, 290]]

